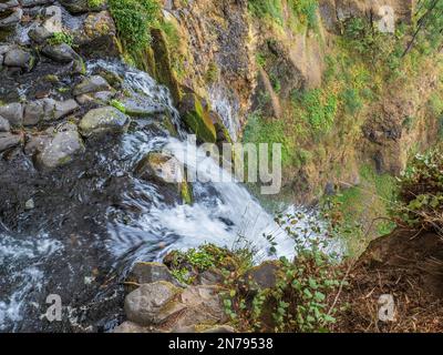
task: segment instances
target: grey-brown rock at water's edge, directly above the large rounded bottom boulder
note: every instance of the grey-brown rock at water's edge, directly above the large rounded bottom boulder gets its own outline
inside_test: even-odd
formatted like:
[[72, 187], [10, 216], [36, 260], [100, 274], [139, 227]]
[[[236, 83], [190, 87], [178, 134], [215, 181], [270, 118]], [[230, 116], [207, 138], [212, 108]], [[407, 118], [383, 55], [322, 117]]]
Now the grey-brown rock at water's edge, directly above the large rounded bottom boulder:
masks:
[[176, 286], [181, 286], [177, 280], [171, 274], [169, 270], [161, 263], [136, 263], [127, 281], [137, 284], [151, 284], [157, 281], [166, 281]]

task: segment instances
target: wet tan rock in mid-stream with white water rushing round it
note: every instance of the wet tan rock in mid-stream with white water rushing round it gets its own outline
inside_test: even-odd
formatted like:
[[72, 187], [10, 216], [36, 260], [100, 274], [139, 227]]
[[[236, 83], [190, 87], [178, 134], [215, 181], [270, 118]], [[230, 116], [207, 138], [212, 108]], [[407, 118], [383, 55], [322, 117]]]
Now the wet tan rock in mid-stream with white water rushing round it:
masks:
[[135, 168], [135, 174], [144, 180], [155, 180], [161, 183], [181, 183], [184, 171], [181, 162], [168, 154], [150, 152]]

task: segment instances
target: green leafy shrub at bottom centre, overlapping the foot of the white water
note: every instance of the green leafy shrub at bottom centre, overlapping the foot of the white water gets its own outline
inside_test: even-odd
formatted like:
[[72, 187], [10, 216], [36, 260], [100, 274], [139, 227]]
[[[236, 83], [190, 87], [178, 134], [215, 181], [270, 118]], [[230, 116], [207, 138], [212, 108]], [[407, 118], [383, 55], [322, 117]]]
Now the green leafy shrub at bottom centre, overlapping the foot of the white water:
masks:
[[[312, 219], [305, 225], [300, 213], [282, 214], [276, 221], [292, 236], [296, 258], [268, 262], [266, 267], [275, 270], [269, 287], [260, 287], [248, 272], [227, 274], [225, 312], [233, 325], [245, 332], [327, 332], [339, 311], [333, 298], [339, 287], [347, 285], [342, 266], [330, 243], [320, 236], [319, 222]], [[265, 237], [275, 248], [275, 235]]]

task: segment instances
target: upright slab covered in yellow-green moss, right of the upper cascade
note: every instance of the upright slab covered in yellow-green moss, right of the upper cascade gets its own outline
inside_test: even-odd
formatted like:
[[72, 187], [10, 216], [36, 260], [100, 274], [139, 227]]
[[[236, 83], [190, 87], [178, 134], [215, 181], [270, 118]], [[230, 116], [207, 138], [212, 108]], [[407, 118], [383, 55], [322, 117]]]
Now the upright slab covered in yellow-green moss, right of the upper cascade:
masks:
[[194, 93], [184, 95], [179, 112], [186, 125], [193, 131], [202, 142], [215, 143], [217, 133], [210, 120], [207, 108], [204, 108], [202, 100]]

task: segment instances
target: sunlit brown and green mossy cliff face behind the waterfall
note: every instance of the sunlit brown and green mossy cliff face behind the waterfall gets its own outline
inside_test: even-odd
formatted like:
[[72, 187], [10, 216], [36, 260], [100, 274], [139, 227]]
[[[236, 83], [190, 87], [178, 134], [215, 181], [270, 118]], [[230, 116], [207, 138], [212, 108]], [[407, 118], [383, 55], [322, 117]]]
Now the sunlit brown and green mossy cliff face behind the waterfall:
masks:
[[[377, 27], [375, 21], [389, 17], [391, 8], [396, 27], [408, 26], [414, 1], [321, 0], [313, 19], [309, 9], [293, 9], [285, 0], [279, 3], [274, 18], [259, 18], [246, 0], [166, 1], [165, 13], [179, 31], [181, 45], [172, 54], [173, 61], [181, 62], [179, 82], [202, 97], [217, 99], [216, 92], [227, 98], [231, 111], [225, 112], [225, 123], [230, 124], [233, 116], [238, 120], [240, 124], [234, 126], [247, 141], [287, 143], [284, 179], [290, 200], [309, 202], [324, 186], [358, 184], [362, 163], [379, 173], [398, 174], [411, 152], [437, 139], [439, 118], [429, 110], [429, 100], [440, 90], [435, 61], [424, 60], [414, 73], [388, 80], [381, 73], [388, 63], [372, 58], [388, 55], [385, 49], [369, 61], [357, 59], [352, 44], [343, 50], [352, 19]], [[344, 55], [352, 64], [340, 62]], [[331, 59], [342, 67], [341, 74], [326, 82]], [[353, 88], [359, 71], [368, 78], [361, 88]], [[353, 81], [343, 80], [346, 75], [354, 75]], [[368, 99], [364, 91], [369, 90]], [[357, 91], [361, 102], [351, 102], [358, 109], [348, 112], [347, 101], [353, 99], [347, 94]], [[328, 115], [332, 110], [332, 123], [319, 122], [316, 128], [310, 122], [317, 118], [306, 114], [309, 103], [297, 103], [305, 92], [320, 92], [317, 105], [336, 101], [332, 109], [324, 105], [326, 112], [320, 112]], [[250, 138], [251, 115], [259, 115], [261, 125], [277, 126], [277, 133], [261, 130], [262, 134]]]

